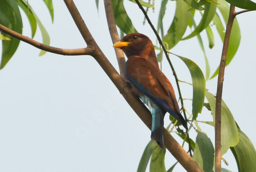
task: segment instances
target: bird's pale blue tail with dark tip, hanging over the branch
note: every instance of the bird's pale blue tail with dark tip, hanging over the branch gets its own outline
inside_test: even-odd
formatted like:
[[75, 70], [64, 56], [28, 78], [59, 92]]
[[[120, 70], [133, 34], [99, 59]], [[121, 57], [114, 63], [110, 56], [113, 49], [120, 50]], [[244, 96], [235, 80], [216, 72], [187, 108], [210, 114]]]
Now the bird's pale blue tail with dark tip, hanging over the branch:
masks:
[[152, 108], [151, 139], [155, 140], [162, 149], [164, 148], [163, 127], [165, 113], [160, 107]]

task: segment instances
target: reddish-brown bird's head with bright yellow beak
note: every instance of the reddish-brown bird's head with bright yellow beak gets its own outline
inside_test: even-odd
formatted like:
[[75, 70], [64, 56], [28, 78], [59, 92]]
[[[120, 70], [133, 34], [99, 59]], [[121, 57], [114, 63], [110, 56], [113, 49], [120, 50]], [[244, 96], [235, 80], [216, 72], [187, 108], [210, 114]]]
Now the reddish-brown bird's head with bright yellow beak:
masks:
[[129, 58], [130, 56], [156, 56], [152, 41], [143, 34], [132, 33], [124, 36], [120, 41], [116, 42], [113, 47], [122, 49]]

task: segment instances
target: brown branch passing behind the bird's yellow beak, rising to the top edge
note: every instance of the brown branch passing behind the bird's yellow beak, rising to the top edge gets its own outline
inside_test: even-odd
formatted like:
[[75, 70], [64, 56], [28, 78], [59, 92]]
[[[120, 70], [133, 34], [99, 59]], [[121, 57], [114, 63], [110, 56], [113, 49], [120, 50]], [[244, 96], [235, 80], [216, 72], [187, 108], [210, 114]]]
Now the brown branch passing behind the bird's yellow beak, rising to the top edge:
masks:
[[[104, 0], [104, 6], [105, 6], [105, 12], [106, 12], [106, 17], [108, 22], [108, 30], [109, 30], [112, 42], [114, 44], [115, 42], [120, 41], [120, 39], [116, 30], [116, 22], [115, 22], [114, 12], [112, 9], [112, 2], [110, 0]], [[125, 66], [124, 52], [118, 48], [115, 48], [115, 52], [116, 52], [117, 63], [120, 70], [120, 75], [123, 78], [126, 78], [125, 68], [124, 68]]]

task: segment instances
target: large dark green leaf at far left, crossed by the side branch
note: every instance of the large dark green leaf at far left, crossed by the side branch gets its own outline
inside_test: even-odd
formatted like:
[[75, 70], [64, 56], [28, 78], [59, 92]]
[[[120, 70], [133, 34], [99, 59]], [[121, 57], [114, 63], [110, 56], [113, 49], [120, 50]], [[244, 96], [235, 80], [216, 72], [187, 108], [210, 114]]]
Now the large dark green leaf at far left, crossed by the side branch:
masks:
[[[0, 5], [0, 24], [22, 34], [22, 20], [19, 7], [15, 0], [2, 0]], [[2, 33], [10, 41], [2, 41], [2, 60], [0, 69], [3, 69], [17, 50], [20, 40]]]

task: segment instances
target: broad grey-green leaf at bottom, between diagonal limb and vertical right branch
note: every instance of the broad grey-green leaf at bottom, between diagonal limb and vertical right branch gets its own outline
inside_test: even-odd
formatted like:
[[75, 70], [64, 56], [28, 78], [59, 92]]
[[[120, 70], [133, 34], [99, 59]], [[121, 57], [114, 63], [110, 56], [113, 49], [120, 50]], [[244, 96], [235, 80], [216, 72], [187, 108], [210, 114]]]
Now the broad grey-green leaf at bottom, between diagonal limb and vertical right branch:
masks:
[[212, 172], [214, 148], [211, 139], [203, 132], [199, 131], [196, 136], [196, 144], [192, 158], [205, 172]]

